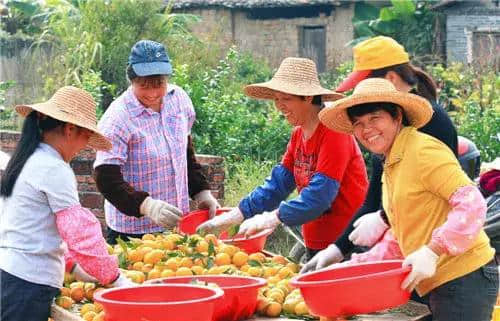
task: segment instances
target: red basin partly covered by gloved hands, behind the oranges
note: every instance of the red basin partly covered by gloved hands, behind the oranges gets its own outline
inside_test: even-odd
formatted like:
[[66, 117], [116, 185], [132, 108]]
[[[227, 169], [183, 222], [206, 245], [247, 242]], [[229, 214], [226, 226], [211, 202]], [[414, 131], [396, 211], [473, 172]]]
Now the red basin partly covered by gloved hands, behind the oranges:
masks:
[[[222, 214], [230, 210], [231, 210], [230, 208], [218, 209], [216, 215]], [[196, 228], [198, 227], [198, 225], [207, 220], [208, 220], [208, 210], [193, 211], [181, 219], [181, 221], [179, 222], [179, 229], [182, 233], [194, 234], [196, 233]], [[257, 234], [254, 234], [248, 238], [243, 238], [243, 237], [230, 238], [227, 235], [227, 232], [222, 232], [219, 235], [219, 239], [226, 244], [235, 245], [247, 253], [255, 253], [255, 252], [260, 252], [264, 249], [267, 237], [272, 232], [273, 232], [272, 229], [267, 229]]]

